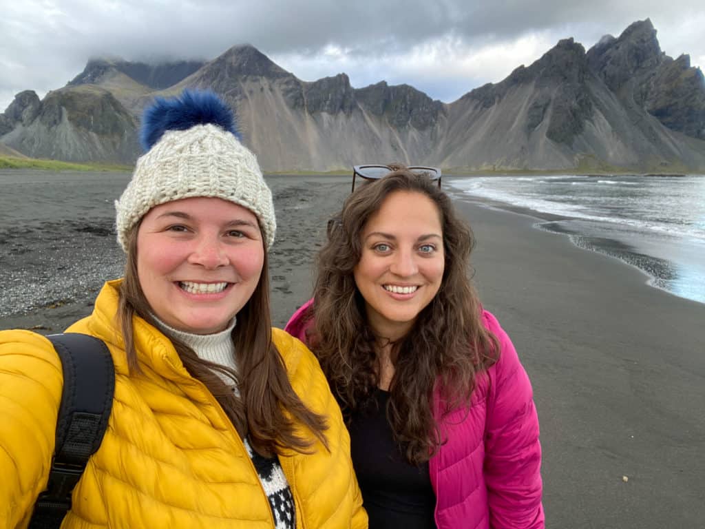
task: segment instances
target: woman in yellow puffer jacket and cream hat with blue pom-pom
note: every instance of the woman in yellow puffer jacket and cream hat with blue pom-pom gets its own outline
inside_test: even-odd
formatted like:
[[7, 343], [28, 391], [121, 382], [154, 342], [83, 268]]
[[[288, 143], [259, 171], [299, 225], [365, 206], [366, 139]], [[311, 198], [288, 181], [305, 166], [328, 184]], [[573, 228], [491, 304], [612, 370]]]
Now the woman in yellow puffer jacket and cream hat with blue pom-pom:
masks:
[[[73, 490], [71, 528], [366, 528], [350, 439], [321, 369], [271, 329], [271, 192], [211, 92], [158, 99], [116, 202], [125, 276], [68, 329], [115, 365], [108, 427]], [[61, 361], [0, 332], [0, 528], [47, 486]]]

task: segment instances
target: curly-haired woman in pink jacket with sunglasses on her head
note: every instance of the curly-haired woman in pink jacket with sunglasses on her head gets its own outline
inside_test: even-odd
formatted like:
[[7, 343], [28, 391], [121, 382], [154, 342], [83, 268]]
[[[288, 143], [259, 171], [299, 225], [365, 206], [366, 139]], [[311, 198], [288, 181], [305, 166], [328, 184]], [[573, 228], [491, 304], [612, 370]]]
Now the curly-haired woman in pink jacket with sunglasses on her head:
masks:
[[329, 224], [287, 330], [343, 408], [369, 527], [544, 528], [532, 388], [468, 279], [470, 228], [429, 174], [358, 169], [376, 179]]

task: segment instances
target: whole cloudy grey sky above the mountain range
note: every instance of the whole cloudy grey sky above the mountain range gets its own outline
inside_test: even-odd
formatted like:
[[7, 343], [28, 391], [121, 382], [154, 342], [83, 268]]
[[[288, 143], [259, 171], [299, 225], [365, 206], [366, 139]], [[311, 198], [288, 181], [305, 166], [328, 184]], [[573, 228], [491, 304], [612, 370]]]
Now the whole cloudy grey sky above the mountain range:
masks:
[[407, 83], [451, 102], [559, 39], [586, 49], [650, 18], [661, 49], [705, 68], [702, 0], [0, 0], [0, 112], [88, 59], [214, 59], [249, 43], [302, 80]]

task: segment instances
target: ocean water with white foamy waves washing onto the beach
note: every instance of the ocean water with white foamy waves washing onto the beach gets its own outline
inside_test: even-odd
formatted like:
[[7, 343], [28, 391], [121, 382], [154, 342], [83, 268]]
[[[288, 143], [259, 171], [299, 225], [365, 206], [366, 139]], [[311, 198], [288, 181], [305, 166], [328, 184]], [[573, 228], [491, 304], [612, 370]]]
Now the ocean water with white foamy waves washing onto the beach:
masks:
[[468, 176], [451, 185], [539, 229], [642, 269], [649, 284], [705, 303], [705, 176]]

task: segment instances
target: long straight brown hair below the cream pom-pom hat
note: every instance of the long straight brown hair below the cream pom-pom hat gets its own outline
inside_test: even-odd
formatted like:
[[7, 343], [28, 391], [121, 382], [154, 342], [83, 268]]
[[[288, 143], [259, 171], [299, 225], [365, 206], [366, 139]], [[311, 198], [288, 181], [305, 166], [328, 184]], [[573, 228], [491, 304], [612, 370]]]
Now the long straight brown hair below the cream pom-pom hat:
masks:
[[[140, 372], [133, 318], [138, 316], [149, 324], [156, 323], [137, 276], [137, 231], [140, 224], [128, 234], [128, 258], [120, 288], [118, 311], [131, 372]], [[313, 444], [312, 439], [305, 439], [295, 433], [295, 421], [305, 425], [327, 448], [324, 435], [326, 418], [310, 411], [299, 399], [289, 383], [283, 359], [271, 340], [266, 246], [262, 275], [252, 297], [238, 312], [238, 324], [232, 336], [239, 372], [202, 360], [185, 343], [173, 336], [169, 338], [188, 372], [209, 389], [233, 422], [240, 437], [245, 439], [245, 436], [249, 436], [252, 448], [259, 454], [271, 457], [283, 448], [307, 453]], [[240, 395], [228, 388], [216, 372], [233, 379]]]

